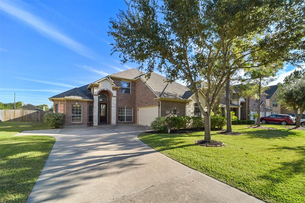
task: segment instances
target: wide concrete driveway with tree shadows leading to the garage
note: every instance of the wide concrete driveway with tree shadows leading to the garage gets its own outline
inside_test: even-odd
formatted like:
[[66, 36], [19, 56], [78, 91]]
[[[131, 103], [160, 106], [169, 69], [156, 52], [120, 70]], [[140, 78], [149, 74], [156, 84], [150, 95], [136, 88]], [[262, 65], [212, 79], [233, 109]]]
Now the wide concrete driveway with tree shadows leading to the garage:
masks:
[[137, 137], [145, 126], [24, 131], [56, 138], [27, 202], [261, 202]]

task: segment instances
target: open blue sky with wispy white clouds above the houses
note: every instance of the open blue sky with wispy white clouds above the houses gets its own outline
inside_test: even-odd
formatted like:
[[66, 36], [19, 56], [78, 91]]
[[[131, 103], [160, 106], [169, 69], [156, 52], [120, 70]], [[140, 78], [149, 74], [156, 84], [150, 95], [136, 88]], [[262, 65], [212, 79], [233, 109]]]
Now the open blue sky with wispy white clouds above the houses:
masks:
[[14, 102], [16, 92], [16, 101], [51, 106], [53, 95], [137, 67], [110, 56], [109, 18], [125, 8], [113, 0], [1, 1], [0, 102]]

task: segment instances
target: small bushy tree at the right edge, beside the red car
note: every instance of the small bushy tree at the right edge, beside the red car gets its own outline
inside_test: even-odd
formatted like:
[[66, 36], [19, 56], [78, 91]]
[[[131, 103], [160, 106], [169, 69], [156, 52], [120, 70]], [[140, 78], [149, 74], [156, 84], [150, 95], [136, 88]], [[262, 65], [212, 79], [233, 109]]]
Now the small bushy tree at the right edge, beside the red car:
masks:
[[305, 69], [295, 70], [285, 77], [284, 82], [278, 84], [278, 91], [281, 104], [293, 109], [296, 115], [296, 127], [300, 127], [301, 117], [305, 110]]

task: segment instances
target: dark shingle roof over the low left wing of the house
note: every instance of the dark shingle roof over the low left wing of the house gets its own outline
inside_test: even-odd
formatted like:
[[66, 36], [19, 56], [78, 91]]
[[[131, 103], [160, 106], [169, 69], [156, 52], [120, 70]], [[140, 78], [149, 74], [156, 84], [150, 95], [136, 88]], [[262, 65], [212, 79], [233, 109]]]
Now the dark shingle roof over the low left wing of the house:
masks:
[[50, 98], [93, 99], [91, 90], [87, 88], [88, 85], [89, 84], [81, 87], [75, 87]]

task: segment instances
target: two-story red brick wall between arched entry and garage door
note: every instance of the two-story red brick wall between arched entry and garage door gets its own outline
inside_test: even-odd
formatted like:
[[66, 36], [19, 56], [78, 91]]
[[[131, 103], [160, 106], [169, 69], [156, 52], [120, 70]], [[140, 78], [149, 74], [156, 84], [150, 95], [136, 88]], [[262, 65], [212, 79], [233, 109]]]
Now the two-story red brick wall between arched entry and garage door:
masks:
[[[121, 80], [120, 79], [113, 79], [114, 84], [121, 87]], [[127, 80], [126, 80], [127, 81]], [[117, 123], [118, 122], [118, 109], [119, 107], [132, 107], [133, 108], [133, 114], [132, 114], [132, 122], [124, 122], [124, 123], [137, 123], [137, 108], [135, 105], [135, 91], [136, 91], [136, 84], [135, 82], [131, 82], [130, 84], [131, 90], [130, 94], [123, 94], [121, 93], [121, 90], [119, 89], [117, 91]]]

